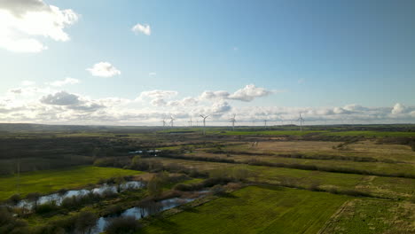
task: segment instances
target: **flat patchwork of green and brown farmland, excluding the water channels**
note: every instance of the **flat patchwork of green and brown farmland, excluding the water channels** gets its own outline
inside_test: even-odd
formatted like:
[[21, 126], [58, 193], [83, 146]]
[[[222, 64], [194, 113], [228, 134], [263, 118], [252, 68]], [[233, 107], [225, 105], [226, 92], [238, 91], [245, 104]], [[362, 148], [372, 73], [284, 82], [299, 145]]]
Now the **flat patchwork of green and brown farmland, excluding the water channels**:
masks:
[[[195, 200], [134, 221], [141, 226], [137, 233], [415, 230], [411, 126], [310, 126], [302, 133], [292, 126], [207, 128], [206, 136], [200, 128], [36, 128], [9, 129], [0, 137], [4, 204], [34, 201], [34, 193], [118, 186], [129, 175], [146, 186], [84, 194], [62, 206], [47, 203], [32, 211], [10, 208], [15, 218], [9, 219], [27, 223], [16, 230], [79, 232], [62, 223], [134, 207], [154, 212], [154, 202], [170, 198]], [[395, 135], [397, 128], [409, 135]], [[85, 231], [92, 231], [94, 223]]]

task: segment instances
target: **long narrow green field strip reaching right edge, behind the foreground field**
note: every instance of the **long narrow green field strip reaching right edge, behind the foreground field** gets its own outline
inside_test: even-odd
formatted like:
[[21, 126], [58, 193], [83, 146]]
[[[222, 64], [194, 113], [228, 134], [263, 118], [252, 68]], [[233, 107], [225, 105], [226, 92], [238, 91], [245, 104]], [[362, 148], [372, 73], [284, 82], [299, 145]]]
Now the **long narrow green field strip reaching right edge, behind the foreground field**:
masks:
[[[225, 170], [241, 167], [239, 164], [209, 162], [200, 160], [176, 160], [168, 158], [151, 158], [145, 160], [157, 160], [164, 165], [178, 164], [185, 168], [198, 168], [202, 171]], [[340, 161], [341, 162], [341, 161]], [[245, 166], [252, 177], [248, 179], [259, 183], [292, 183], [301, 187], [309, 187], [317, 184], [321, 188], [332, 188], [346, 191], [358, 190], [369, 192], [373, 195], [390, 199], [409, 199], [415, 191], [415, 179], [398, 177], [381, 177], [374, 175], [357, 175], [333, 173], [324, 171], [301, 170], [294, 168], [275, 168], [264, 166]]]

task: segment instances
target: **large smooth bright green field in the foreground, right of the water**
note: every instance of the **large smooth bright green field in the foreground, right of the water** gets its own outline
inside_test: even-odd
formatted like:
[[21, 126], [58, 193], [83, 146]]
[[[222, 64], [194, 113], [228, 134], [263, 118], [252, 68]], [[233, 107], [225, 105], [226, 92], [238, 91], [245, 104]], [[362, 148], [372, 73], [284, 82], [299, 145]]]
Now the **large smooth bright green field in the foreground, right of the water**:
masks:
[[349, 198], [250, 186], [153, 222], [144, 233], [317, 233]]

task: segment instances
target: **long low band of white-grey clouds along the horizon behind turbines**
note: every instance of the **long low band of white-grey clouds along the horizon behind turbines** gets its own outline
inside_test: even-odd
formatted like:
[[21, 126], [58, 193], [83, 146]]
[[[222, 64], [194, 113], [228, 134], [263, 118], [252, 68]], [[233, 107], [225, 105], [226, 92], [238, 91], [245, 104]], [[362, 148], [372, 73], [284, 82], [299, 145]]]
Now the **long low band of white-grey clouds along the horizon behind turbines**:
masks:
[[[65, 82], [65, 80], [61, 81]], [[247, 103], [270, 95], [270, 91], [247, 85], [233, 93], [204, 91], [197, 97], [179, 98], [175, 90], [148, 90], [137, 98], [98, 98], [54, 90], [59, 86], [17, 87], [0, 97], [0, 121], [64, 124], [159, 125], [173, 115], [177, 126], [192, 117], [210, 115], [208, 125], [229, 125], [237, 114], [239, 125], [268, 121], [269, 125], [297, 123], [299, 113], [306, 124], [414, 122], [415, 106], [370, 107], [356, 104], [321, 107], [256, 106]], [[244, 104], [244, 105], [238, 105]]]

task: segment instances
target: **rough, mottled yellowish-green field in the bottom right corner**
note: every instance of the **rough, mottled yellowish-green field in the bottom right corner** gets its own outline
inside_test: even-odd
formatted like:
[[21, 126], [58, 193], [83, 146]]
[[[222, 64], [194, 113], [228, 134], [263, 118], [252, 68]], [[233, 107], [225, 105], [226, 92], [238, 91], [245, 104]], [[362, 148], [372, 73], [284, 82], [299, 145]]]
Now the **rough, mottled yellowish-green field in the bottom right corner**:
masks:
[[353, 199], [333, 215], [319, 234], [415, 233], [415, 204], [380, 199]]

